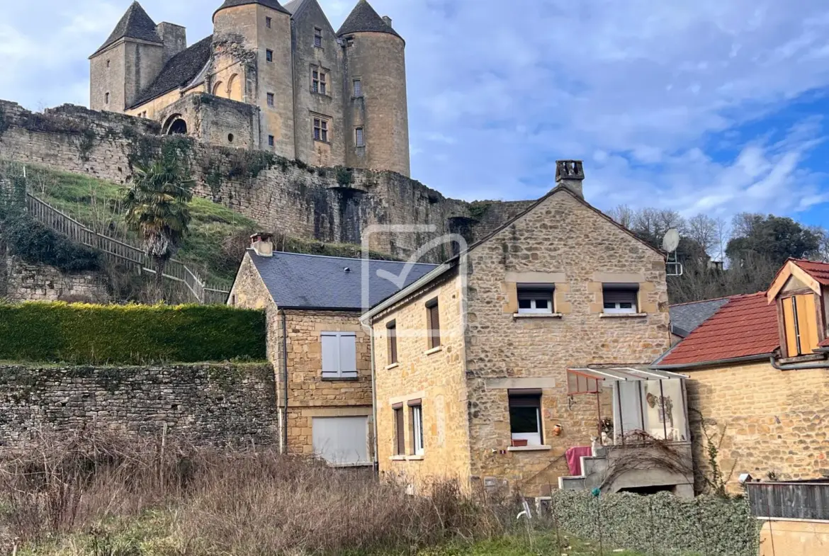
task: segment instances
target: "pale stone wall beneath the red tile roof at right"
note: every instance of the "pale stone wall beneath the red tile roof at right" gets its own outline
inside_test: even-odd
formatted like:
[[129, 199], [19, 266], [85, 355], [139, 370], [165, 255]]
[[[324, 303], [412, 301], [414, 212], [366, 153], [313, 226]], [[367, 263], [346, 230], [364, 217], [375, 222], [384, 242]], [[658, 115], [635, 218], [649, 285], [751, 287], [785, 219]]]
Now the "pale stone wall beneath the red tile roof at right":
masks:
[[688, 404], [701, 472], [709, 466], [700, 416], [710, 433], [725, 429], [719, 465], [725, 473], [734, 469], [731, 491], [740, 491], [740, 473], [765, 480], [773, 472], [780, 481], [829, 474], [829, 369], [777, 370], [760, 362], [682, 372], [691, 375]]

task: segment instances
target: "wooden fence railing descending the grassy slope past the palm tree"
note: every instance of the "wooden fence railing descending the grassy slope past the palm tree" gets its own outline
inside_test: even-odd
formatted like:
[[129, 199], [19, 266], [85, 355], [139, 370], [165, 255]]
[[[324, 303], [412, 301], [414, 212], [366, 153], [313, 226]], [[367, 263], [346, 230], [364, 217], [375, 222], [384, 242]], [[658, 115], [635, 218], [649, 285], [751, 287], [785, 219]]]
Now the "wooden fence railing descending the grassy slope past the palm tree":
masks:
[[[99, 234], [95, 230], [90, 230], [70, 215], [66, 215], [61, 210], [57, 210], [54, 206], [41, 201], [41, 199], [28, 192], [26, 194], [26, 210], [35, 220], [78, 243], [98, 249], [111, 261], [123, 264], [138, 273], [156, 273], [152, 261], [147, 254], [144, 254], [142, 249], [119, 241], [119, 239], [110, 238], [108, 235]], [[201, 304], [223, 303], [230, 295], [230, 292], [224, 289], [209, 287], [197, 273], [177, 259], [167, 261], [163, 276], [169, 280], [183, 283], [196, 302]]]

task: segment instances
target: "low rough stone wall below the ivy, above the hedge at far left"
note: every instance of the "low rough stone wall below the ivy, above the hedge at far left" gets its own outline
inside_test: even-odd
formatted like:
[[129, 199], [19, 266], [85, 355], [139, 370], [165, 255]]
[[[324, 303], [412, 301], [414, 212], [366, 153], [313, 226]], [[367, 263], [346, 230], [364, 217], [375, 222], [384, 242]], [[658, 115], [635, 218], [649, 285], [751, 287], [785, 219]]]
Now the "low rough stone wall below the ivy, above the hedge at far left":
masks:
[[0, 266], [0, 280], [5, 283], [0, 297], [11, 302], [112, 301], [109, 279], [102, 273], [63, 273], [45, 264], [27, 264], [9, 257], [5, 266]]

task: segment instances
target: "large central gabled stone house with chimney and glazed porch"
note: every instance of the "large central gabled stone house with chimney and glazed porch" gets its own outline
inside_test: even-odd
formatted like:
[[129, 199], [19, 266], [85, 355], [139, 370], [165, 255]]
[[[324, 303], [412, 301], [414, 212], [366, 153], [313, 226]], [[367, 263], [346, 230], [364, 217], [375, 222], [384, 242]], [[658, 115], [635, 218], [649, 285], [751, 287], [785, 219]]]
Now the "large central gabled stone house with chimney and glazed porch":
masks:
[[[584, 201], [583, 179], [581, 162], [559, 162], [550, 193], [361, 317], [382, 473], [531, 496], [556, 485], [691, 494], [681, 376], [647, 370], [671, 345], [665, 255]], [[642, 446], [630, 433], [676, 441], [681, 471], [651, 480], [611, 457], [626, 438]], [[611, 484], [627, 471], [638, 477]]]

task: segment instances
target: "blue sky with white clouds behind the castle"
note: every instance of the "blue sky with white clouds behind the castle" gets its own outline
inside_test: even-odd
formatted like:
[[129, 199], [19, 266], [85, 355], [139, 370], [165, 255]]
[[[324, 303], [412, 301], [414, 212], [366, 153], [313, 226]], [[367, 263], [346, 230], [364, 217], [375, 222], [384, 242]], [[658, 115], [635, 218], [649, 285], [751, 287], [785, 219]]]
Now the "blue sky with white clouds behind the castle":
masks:
[[[356, 0], [320, 0], [337, 28]], [[87, 56], [128, 0], [3, 2], [0, 98], [87, 104]], [[468, 200], [528, 199], [555, 160], [585, 196], [829, 226], [824, 0], [372, 0], [407, 41], [412, 175]], [[220, 0], [143, 0], [211, 32]]]

